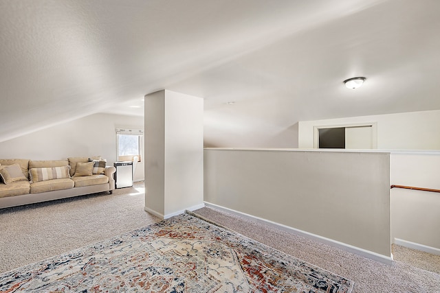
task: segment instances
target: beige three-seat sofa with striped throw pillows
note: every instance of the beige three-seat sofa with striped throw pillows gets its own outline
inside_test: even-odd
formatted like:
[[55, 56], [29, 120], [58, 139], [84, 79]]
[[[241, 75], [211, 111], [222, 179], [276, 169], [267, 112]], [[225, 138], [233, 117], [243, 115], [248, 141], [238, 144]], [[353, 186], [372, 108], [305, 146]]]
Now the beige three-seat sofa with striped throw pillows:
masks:
[[100, 156], [54, 161], [0, 159], [0, 209], [103, 191], [111, 194], [115, 171]]

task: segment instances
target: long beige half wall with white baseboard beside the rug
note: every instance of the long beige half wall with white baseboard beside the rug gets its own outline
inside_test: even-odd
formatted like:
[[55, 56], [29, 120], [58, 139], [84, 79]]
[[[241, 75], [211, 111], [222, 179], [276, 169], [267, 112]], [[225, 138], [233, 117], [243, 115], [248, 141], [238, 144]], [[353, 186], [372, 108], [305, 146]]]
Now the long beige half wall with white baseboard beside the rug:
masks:
[[205, 202], [391, 261], [389, 154], [205, 150]]

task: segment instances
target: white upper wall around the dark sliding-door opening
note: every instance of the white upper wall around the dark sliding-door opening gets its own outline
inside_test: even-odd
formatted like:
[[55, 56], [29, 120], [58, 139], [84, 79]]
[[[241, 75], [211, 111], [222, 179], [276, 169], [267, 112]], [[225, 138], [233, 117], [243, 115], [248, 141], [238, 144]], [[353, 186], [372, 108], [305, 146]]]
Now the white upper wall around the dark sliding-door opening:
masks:
[[440, 150], [440, 110], [300, 121], [298, 148], [314, 148], [314, 126], [377, 122], [377, 149]]

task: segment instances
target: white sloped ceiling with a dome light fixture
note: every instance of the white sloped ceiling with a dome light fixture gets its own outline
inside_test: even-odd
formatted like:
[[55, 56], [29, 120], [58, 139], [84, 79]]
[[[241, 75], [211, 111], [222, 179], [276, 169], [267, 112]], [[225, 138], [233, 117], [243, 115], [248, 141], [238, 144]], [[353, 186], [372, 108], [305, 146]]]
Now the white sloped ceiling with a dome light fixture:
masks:
[[[0, 0], [0, 141], [143, 115], [159, 89], [203, 97], [217, 146], [287, 148], [298, 121], [440, 109], [439, 13], [438, 0]], [[366, 83], [346, 89], [354, 76]]]

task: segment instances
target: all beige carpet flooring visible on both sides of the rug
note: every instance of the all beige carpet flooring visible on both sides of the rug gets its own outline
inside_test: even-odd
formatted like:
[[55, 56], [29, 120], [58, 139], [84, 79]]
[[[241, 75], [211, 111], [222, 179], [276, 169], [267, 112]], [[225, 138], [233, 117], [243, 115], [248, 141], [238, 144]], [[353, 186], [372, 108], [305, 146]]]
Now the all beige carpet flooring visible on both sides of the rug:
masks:
[[[197, 215], [354, 281], [353, 292], [440, 292], [440, 257], [393, 246], [392, 266], [203, 208]], [[144, 185], [0, 210], [0, 272], [159, 222], [144, 211]]]

